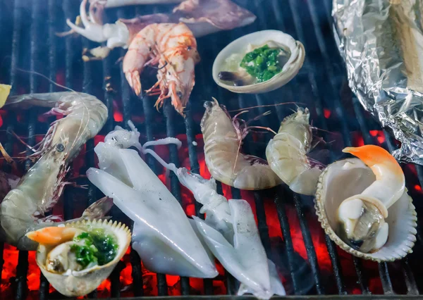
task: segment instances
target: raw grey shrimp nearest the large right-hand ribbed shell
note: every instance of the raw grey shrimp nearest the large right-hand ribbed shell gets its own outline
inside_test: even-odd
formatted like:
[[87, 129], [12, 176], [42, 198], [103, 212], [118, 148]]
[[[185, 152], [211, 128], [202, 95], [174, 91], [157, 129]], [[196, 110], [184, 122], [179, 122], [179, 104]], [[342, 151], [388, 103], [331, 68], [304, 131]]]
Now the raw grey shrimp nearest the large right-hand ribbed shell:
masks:
[[266, 147], [271, 169], [299, 194], [314, 194], [321, 173], [321, 165], [312, 165], [307, 158], [312, 138], [309, 111], [298, 108], [296, 113], [283, 119], [278, 134]]

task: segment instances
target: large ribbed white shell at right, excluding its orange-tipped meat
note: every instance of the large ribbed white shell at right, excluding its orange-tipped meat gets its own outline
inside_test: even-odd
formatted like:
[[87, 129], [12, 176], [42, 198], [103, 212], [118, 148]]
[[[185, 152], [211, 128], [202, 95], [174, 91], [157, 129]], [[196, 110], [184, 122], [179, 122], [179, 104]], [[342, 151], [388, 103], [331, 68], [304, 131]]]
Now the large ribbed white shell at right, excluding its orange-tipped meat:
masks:
[[360, 194], [376, 180], [372, 170], [358, 158], [348, 158], [331, 163], [324, 169], [317, 183], [314, 199], [317, 216], [326, 235], [343, 250], [354, 256], [372, 261], [396, 261], [412, 252], [416, 241], [417, 213], [407, 189], [403, 196], [388, 208], [388, 241], [374, 253], [362, 253], [336, 235], [336, 211], [344, 199]]

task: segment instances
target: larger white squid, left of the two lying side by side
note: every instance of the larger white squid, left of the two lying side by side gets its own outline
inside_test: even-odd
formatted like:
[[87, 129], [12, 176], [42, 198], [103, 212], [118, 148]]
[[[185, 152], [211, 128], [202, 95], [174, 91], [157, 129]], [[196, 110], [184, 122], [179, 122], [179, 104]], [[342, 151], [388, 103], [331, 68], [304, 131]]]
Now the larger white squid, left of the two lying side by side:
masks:
[[189, 277], [218, 275], [211, 254], [195, 234], [175, 197], [142, 160], [133, 124], [128, 132], [116, 127], [94, 151], [99, 169], [87, 170], [88, 179], [134, 221], [132, 245], [142, 263], [155, 273]]

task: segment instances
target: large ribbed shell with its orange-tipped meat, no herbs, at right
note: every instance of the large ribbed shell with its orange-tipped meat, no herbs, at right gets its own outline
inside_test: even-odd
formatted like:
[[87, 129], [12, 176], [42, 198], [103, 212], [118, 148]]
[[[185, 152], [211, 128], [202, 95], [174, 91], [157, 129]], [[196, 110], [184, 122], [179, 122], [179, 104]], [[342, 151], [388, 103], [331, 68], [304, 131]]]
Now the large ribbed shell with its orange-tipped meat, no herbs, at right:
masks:
[[415, 244], [417, 215], [403, 170], [379, 146], [343, 151], [357, 158], [331, 163], [319, 177], [315, 205], [321, 226], [342, 249], [360, 258], [405, 257]]

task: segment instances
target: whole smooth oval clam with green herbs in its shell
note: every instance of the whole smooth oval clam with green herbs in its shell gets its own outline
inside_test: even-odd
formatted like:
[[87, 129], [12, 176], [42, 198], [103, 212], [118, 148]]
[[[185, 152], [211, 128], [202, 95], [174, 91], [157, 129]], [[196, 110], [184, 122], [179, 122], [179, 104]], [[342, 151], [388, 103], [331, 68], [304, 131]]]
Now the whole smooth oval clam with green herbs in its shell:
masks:
[[216, 56], [212, 75], [217, 85], [231, 92], [259, 94], [286, 85], [298, 74], [304, 59], [304, 46], [290, 35], [278, 30], [257, 31], [228, 44]]

